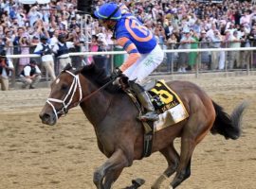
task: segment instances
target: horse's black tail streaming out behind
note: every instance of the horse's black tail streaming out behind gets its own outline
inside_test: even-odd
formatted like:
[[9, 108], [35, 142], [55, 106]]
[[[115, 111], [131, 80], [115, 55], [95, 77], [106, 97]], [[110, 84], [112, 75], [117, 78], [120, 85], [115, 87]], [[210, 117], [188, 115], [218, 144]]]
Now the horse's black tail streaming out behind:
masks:
[[241, 135], [241, 121], [243, 117], [243, 112], [247, 108], [247, 102], [244, 101], [238, 105], [231, 115], [227, 112], [224, 112], [223, 108], [212, 101], [216, 112], [216, 118], [213, 123], [213, 127], [210, 129], [212, 134], [221, 134], [226, 139], [236, 140]]

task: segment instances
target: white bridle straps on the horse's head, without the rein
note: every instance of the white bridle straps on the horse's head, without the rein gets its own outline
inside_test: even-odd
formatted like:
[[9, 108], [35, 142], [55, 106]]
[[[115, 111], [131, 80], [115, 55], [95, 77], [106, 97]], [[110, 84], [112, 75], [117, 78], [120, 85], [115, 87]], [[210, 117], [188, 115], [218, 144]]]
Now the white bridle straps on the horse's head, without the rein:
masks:
[[[82, 100], [82, 88], [81, 88], [81, 82], [80, 82], [80, 78], [79, 75], [74, 75], [72, 72], [69, 72], [68, 70], [65, 70], [64, 72], [70, 74], [73, 77], [73, 81], [72, 84], [69, 88], [68, 93], [64, 96], [63, 100], [60, 99], [56, 99], [56, 98], [47, 98], [46, 103], [49, 104], [56, 116], [56, 118], [58, 119], [58, 114], [66, 114], [68, 112], [68, 106], [71, 104], [74, 94], [77, 91], [77, 88], [79, 89], [79, 103]], [[67, 100], [67, 98], [70, 96], [69, 100]], [[61, 103], [63, 104], [63, 109], [59, 112], [56, 111], [55, 107], [53, 106], [52, 102], [57, 102], [57, 103]], [[79, 104], [77, 103], [77, 105]], [[76, 106], [77, 106], [76, 105]]]

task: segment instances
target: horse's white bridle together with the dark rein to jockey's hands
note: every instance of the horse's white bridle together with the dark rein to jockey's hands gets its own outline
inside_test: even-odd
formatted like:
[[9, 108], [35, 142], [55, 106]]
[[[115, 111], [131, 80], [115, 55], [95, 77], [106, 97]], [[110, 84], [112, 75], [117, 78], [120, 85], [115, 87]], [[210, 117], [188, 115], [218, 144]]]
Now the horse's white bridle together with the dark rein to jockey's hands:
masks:
[[[103, 86], [101, 86], [101, 88], [97, 89], [96, 91], [92, 92], [91, 94], [88, 94], [88, 95], [82, 97], [82, 87], [81, 87], [79, 75], [74, 75], [72, 72], [70, 72], [68, 70], [64, 70], [64, 72], [68, 73], [69, 75], [71, 75], [73, 77], [73, 81], [68, 90], [68, 93], [64, 96], [63, 100], [60, 100], [57, 98], [47, 98], [47, 100], [46, 100], [46, 103], [51, 106], [57, 119], [58, 119], [58, 114], [65, 115], [68, 112], [68, 109], [78, 106], [80, 103], [87, 100], [92, 95], [100, 92], [102, 89], [107, 87], [110, 83], [112, 83], [116, 79], [116, 78], [111, 79], [110, 81], [106, 82]], [[73, 97], [74, 97], [75, 93], [77, 92], [77, 89], [79, 89], [79, 101], [72, 103]], [[70, 96], [69, 101], [66, 102], [66, 100], [68, 99], [69, 96]], [[57, 103], [63, 104], [63, 109], [61, 111], [57, 112], [57, 110], [54, 107], [54, 105], [52, 104], [52, 102], [57, 102]]]

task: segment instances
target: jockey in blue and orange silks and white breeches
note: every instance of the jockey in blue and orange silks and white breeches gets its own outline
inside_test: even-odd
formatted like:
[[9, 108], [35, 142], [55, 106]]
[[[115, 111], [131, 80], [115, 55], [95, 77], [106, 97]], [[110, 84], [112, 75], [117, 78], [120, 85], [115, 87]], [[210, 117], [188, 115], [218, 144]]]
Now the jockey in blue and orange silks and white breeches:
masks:
[[149, 94], [138, 84], [148, 77], [164, 58], [155, 36], [132, 13], [123, 11], [116, 3], [102, 5], [100, 9], [94, 11], [94, 16], [99, 19], [102, 26], [113, 31], [113, 37], [129, 55], [112, 76], [118, 77], [119, 82], [122, 82], [123, 75], [129, 78], [130, 88], [147, 110], [146, 114], [139, 117], [141, 121], [158, 120]]

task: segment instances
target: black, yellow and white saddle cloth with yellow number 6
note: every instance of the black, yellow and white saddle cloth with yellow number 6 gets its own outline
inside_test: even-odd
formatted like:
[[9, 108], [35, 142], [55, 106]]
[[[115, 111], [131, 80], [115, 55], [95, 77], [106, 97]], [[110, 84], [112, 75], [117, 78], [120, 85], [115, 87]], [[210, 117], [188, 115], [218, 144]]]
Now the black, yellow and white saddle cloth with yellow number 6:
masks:
[[147, 89], [152, 95], [155, 111], [159, 120], [154, 122], [154, 130], [164, 129], [189, 117], [189, 113], [179, 96], [165, 83], [163, 79], [156, 80], [155, 86]]

